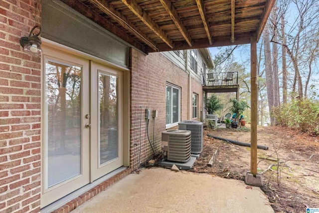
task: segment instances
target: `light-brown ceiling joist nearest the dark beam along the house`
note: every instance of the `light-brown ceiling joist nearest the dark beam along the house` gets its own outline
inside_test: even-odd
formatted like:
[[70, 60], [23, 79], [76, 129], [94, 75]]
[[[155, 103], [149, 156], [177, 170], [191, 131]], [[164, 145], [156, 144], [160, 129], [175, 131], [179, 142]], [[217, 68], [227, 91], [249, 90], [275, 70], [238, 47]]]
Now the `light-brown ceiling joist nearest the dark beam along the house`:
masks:
[[116, 9], [114, 9], [111, 5], [107, 3], [106, 0], [90, 0], [92, 3], [97, 5], [103, 12], [108, 14], [110, 17], [115, 19], [121, 26], [132, 32], [134, 35], [136, 35], [138, 38], [140, 38], [142, 41], [144, 41], [148, 46], [150, 46], [152, 49], [156, 50], [156, 43], [154, 43], [148, 36], [136, 28], [129, 20], [126, 19], [125, 16], [123, 16], [120, 12], [118, 12]]

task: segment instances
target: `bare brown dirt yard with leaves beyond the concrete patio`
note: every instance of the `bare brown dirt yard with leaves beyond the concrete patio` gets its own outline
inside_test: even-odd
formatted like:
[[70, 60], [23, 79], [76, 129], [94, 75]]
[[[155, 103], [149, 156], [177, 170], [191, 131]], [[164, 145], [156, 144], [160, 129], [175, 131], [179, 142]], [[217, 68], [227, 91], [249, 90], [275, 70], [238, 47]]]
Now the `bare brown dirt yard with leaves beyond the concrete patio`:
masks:
[[[205, 129], [203, 151], [190, 171], [244, 180], [250, 171], [250, 147], [230, 144], [207, 134], [250, 143], [250, 126], [242, 129]], [[258, 127], [258, 173], [277, 213], [305, 213], [319, 208], [319, 137], [282, 127]], [[208, 167], [216, 149], [215, 163]]]

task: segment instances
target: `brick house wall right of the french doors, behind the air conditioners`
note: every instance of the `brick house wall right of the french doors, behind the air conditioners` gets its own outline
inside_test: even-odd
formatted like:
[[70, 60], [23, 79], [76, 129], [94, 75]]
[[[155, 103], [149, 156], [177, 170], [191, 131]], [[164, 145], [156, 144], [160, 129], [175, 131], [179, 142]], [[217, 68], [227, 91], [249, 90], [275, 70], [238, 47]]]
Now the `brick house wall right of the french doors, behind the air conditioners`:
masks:
[[[158, 110], [155, 119], [155, 148], [161, 149], [161, 132], [165, 131], [166, 82], [181, 88], [181, 118], [187, 119], [188, 74], [160, 53], [144, 55], [132, 49], [131, 61], [131, 165], [135, 169], [153, 155], [147, 140], [145, 109]], [[201, 84], [194, 81], [192, 90], [202, 101]], [[201, 107], [202, 105], [199, 105]], [[142, 118], [142, 119], [141, 119]], [[153, 118], [149, 123], [149, 136], [153, 142]], [[177, 126], [174, 127], [177, 129]], [[153, 145], [153, 143], [152, 143]]]

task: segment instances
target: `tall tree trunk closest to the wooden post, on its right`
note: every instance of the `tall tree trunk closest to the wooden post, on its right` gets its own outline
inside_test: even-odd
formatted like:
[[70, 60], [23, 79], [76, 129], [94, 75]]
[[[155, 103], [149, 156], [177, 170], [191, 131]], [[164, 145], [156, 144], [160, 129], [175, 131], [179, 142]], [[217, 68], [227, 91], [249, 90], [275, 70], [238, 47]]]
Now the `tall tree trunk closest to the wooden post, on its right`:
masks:
[[274, 106], [274, 87], [273, 87], [273, 69], [271, 60], [270, 50], [270, 39], [269, 39], [269, 24], [266, 24], [263, 39], [264, 39], [264, 54], [265, 54], [265, 72], [266, 72], [266, 86], [267, 86], [267, 99], [270, 112], [271, 125], [274, 124], [274, 116], [272, 114], [272, 108]]

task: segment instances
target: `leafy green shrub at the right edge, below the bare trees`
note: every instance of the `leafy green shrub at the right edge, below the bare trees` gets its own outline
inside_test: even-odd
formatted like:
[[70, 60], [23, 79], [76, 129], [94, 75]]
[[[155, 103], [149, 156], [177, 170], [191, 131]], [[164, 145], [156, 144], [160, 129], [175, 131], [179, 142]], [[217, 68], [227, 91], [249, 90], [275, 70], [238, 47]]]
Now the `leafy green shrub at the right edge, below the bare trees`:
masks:
[[273, 108], [277, 123], [299, 129], [309, 134], [319, 134], [319, 101], [313, 99], [293, 100]]

